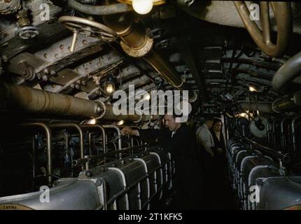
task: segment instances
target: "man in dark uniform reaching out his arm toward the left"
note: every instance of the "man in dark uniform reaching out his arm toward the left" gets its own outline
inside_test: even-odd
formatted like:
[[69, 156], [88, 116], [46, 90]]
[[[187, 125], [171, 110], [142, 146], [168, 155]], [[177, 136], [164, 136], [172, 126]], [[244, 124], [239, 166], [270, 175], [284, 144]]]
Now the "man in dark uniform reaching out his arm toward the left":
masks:
[[122, 134], [139, 136], [142, 140], [159, 139], [162, 147], [172, 154], [176, 165], [176, 194], [172, 209], [202, 208], [202, 167], [197, 151], [195, 132], [175, 117], [165, 114], [165, 127], [160, 130], [132, 130], [125, 127]]

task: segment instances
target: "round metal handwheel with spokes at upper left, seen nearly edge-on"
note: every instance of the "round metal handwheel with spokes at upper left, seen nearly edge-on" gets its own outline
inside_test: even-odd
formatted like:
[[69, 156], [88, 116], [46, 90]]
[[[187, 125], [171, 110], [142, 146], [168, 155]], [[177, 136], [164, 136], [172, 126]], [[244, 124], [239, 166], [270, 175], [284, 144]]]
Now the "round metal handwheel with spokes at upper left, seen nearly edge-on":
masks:
[[100, 38], [107, 42], [116, 40], [116, 32], [99, 22], [94, 22], [92, 20], [76, 16], [62, 16], [59, 18], [59, 22], [61, 22], [67, 29], [73, 31], [74, 34], [84, 34], [86, 36]]

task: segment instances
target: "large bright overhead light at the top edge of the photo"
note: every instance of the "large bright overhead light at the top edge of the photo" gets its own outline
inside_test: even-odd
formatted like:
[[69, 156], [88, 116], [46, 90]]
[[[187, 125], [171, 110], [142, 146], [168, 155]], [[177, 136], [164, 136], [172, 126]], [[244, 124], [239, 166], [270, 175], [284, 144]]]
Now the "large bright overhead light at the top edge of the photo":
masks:
[[118, 0], [121, 3], [131, 4], [136, 13], [145, 15], [151, 12], [153, 6], [162, 5], [165, 0]]

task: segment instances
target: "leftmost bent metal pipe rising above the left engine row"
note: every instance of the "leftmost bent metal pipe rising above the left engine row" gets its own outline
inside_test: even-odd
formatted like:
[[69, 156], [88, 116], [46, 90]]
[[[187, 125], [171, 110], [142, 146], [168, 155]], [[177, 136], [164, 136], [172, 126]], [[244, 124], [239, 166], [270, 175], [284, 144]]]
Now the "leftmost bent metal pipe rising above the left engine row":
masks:
[[52, 185], [52, 142], [51, 142], [51, 130], [49, 125], [44, 123], [22, 123], [22, 127], [42, 127], [46, 134], [46, 150], [47, 150], [47, 180], [48, 186]]

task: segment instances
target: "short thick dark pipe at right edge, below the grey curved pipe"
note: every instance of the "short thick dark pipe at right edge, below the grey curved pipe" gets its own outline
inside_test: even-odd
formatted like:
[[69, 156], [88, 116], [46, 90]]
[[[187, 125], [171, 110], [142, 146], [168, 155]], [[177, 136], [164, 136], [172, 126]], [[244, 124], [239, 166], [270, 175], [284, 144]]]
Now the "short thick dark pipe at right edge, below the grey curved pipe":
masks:
[[283, 111], [293, 111], [301, 107], [301, 91], [295, 92], [293, 97], [279, 99], [273, 102], [272, 109], [276, 113]]

